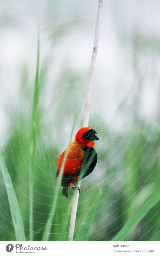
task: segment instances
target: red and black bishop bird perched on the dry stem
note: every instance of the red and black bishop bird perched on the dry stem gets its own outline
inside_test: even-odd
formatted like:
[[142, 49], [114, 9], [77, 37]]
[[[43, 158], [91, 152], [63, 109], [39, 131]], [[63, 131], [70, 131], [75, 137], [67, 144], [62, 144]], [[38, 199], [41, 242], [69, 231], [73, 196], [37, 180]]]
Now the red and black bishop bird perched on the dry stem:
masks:
[[[75, 140], [69, 145], [61, 181], [61, 185], [63, 187], [62, 194], [66, 196], [66, 198], [68, 198], [68, 188], [71, 183], [74, 184], [73, 188], [77, 186], [78, 190], [81, 191], [81, 187], [79, 187], [76, 182], [79, 179], [82, 165], [84, 167], [81, 177], [82, 179], [89, 175], [96, 166], [97, 153], [94, 148], [94, 140], [99, 140], [96, 131], [90, 127], [82, 127], [77, 132]], [[66, 150], [59, 156], [56, 179], [62, 168], [62, 162], [64, 160]]]

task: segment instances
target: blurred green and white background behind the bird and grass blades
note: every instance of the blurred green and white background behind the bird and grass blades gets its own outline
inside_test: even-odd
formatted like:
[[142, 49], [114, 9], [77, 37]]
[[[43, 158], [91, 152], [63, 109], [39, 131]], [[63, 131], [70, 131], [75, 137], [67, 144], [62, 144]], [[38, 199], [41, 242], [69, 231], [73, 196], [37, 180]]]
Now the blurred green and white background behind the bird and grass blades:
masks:
[[[36, 125], [34, 239], [40, 241], [56, 189], [58, 156], [82, 127], [98, 1], [1, 1], [1, 150], [10, 166], [29, 239], [29, 145], [40, 32], [40, 98]], [[88, 241], [110, 241], [159, 187], [160, 3], [104, 1], [89, 126], [98, 163], [82, 181], [75, 239], [99, 188]], [[39, 22], [38, 22], [39, 18]], [[119, 108], [120, 105], [120, 109]], [[0, 239], [14, 226], [0, 177]], [[125, 192], [124, 192], [125, 191]], [[71, 200], [59, 192], [51, 241], [67, 240]], [[4, 216], [3, 216], [4, 215]], [[159, 204], [129, 241], [159, 240]]]

